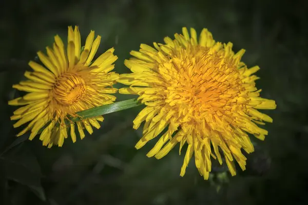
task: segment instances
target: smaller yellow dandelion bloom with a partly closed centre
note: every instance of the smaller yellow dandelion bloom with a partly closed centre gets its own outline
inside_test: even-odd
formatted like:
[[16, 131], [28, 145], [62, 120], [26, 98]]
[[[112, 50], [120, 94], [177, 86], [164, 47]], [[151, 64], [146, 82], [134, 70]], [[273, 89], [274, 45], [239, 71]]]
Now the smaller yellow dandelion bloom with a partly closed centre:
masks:
[[[111, 48], [91, 63], [101, 41], [101, 36], [94, 40], [94, 31], [88, 35], [83, 51], [78, 27], [74, 30], [68, 27], [67, 50], [58, 35], [54, 40], [53, 48], [46, 48], [47, 56], [41, 51], [37, 53], [45, 67], [30, 61], [29, 66], [34, 72], [26, 71], [28, 80], [13, 85], [13, 88], [29, 93], [9, 101], [9, 105], [25, 105], [11, 117], [12, 120], [19, 119], [15, 128], [30, 121], [17, 136], [31, 130], [29, 139], [32, 140], [41, 128], [47, 126], [40, 136], [43, 145], [61, 147], [69, 128], [73, 142], [76, 141], [74, 123], [65, 124], [67, 115], [76, 116], [78, 111], [111, 104], [115, 100], [108, 93], [117, 92], [112, 85], [119, 75], [109, 71], [114, 68], [112, 64], [118, 57], [113, 55], [114, 49]], [[80, 137], [85, 136], [84, 127], [92, 134], [91, 126], [99, 129], [98, 121], [103, 120], [103, 116], [98, 116], [76, 122]], [[60, 126], [56, 126], [57, 122]]]

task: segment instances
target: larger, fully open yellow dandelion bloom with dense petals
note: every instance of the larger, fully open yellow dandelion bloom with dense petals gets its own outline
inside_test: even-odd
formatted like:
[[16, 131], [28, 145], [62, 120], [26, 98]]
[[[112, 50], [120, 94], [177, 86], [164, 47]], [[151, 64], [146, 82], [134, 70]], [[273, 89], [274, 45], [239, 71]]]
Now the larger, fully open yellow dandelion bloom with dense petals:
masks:
[[195, 153], [196, 167], [208, 179], [210, 157], [222, 164], [219, 147], [232, 175], [236, 174], [234, 159], [245, 170], [241, 148], [254, 151], [247, 133], [264, 140], [267, 131], [256, 124], [273, 121], [257, 109], [276, 108], [274, 100], [259, 97], [258, 77], [252, 75], [259, 67], [247, 69], [240, 61], [244, 50], [235, 54], [232, 43], [215, 42], [207, 29], [199, 40], [195, 29], [190, 29], [189, 37], [183, 28], [183, 35], [175, 34], [175, 40], [165, 37], [164, 42], [154, 43], [155, 49], [141, 44], [139, 52], [131, 51], [134, 58], [125, 65], [133, 73], [122, 74], [118, 80], [130, 85], [120, 93], [137, 94], [146, 105], [133, 121], [134, 129], [145, 121], [136, 148], [163, 132], [147, 156], [160, 159], [178, 142], [181, 153], [187, 142], [181, 176]]

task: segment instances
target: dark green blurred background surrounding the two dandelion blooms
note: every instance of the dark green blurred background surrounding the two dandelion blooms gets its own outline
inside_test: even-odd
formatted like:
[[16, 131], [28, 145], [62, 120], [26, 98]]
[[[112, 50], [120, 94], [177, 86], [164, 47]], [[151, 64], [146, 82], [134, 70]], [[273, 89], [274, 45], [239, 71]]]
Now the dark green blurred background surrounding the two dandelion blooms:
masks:
[[[307, 9], [298, 0], [2, 0], [0, 204], [307, 204]], [[118, 73], [129, 72], [123, 60], [130, 50], [163, 43], [183, 26], [199, 33], [207, 28], [216, 40], [232, 42], [235, 52], [246, 49], [243, 61], [261, 68], [261, 96], [277, 103], [265, 111], [274, 122], [265, 126], [265, 141], [254, 140], [247, 170], [230, 177], [214, 164], [205, 181], [191, 160], [180, 177], [179, 145], [160, 160], [147, 158], [157, 139], [137, 151], [141, 130], [132, 129], [142, 106], [105, 115], [100, 130], [62, 148], [47, 149], [27, 134], [16, 138], [10, 121], [16, 107], [7, 101], [20, 93], [12, 85], [54, 35], [67, 39], [69, 25], [79, 25], [82, 43], [90, 30], [101, 35], [98, 54], [114, 47]]]

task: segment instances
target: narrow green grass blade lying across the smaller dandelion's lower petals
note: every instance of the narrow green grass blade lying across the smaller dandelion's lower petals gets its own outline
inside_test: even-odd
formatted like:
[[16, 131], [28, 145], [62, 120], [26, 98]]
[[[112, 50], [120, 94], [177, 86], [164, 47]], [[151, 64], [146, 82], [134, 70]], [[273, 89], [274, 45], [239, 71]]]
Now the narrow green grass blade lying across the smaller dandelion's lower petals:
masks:
[[[77, 112], [79, 116], [81, 116], [82, 119], [89, 118], [89, 117], [96, 117], [100, 115], [105, 115], [113, 112], [118, 112], [121, 110], [126, 110], [129, 108], [137, 107], [142, 105], [140, 101], [138, 101], [136, 98], [123, 100], [117, 103], [104, 105], [100, 107], [91, 108], [88, 110]], [[79, 121], [81, 118], [79, 117], [72, 117], [70, 118], [72, 121]]]

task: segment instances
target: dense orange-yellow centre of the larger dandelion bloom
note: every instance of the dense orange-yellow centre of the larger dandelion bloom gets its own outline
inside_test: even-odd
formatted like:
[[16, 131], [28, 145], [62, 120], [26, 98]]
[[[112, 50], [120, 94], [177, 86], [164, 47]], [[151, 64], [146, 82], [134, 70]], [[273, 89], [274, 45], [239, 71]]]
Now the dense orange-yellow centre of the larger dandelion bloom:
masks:
[[161, 70], [165, 78], [173, 76], [173, 79], [167, 79], [170, 84], [166, 103], [190, 109], [193, 113], [189, 115], [196, 116], [229, 110], [242, 90], [239, 72], [232, 61], [203, 50], [194, 53], [193, 57], [189, 52], [184, 54], [184, 57], [172, 58], [168, 72]]

